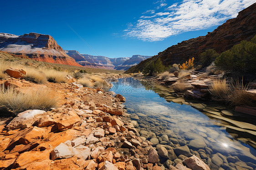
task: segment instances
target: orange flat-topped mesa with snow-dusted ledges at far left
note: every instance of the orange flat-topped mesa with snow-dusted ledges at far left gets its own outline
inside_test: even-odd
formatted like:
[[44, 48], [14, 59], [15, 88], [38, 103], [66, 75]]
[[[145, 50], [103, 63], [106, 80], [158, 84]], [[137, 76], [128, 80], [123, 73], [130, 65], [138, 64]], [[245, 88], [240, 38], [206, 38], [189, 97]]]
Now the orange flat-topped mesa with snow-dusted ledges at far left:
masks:
[[81, 66], [68, 56], [51, 35], [0, 33], [0, 50], [30, 59], [64, 65]]

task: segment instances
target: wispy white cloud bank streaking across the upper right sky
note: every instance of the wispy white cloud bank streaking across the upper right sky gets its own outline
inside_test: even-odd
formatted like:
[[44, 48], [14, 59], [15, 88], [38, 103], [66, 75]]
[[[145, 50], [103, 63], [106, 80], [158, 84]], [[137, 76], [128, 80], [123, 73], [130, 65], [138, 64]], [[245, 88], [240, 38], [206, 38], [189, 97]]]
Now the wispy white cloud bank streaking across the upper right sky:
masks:
[[[207, 29], [235, 18], [239, 11], [254, 2], [256, 0], [183, 0], [165, 9], [169, 12], [164, 12], [163, 9], [155, 13], [154, 10], [155, 15], [142, 16], [128, 29], [126, 36], [144, 41], [159, 41], [171, 35]], [[161, 7], [167, 6], [163, 1], [158, 3], [158, 7], [161, 4]]]

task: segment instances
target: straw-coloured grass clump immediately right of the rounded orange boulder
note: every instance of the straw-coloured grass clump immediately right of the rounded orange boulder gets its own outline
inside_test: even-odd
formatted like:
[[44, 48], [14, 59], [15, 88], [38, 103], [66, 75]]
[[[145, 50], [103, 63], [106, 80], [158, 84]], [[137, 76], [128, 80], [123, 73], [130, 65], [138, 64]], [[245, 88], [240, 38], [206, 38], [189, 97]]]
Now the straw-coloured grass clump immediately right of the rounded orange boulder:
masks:
[[47, 78], [44, 73], [32, 68], [26, 68], [24, 70], [26, 71], [25, 80], [38, 84], [44, 84], [47, 82]]

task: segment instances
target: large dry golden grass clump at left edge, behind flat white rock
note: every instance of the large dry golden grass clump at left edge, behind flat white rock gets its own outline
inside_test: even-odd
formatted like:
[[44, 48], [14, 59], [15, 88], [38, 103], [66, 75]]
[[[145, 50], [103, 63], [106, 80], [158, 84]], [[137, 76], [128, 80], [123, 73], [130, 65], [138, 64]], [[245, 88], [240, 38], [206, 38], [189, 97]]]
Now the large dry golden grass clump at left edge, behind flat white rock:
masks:
[[5, 89], [0, 86], [0, 109], [20, 113], [25, 110], [49, 110], [56, 107], [58, 98], [51, 97], [49, 91], [42, 88], [28, 91], [24, 94], [15, 91], [13, 87]]

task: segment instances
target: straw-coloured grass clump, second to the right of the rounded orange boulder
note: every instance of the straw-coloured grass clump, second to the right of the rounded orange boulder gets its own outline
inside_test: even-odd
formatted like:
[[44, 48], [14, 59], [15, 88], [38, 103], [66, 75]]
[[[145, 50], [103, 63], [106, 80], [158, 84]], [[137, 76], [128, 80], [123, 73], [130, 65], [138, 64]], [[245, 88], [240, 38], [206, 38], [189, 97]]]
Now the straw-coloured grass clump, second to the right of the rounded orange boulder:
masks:
[[49, 82], [67, 83], [67, 72], [56, 70], [42, 70]]

